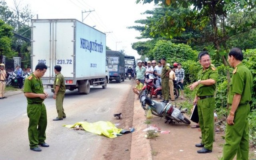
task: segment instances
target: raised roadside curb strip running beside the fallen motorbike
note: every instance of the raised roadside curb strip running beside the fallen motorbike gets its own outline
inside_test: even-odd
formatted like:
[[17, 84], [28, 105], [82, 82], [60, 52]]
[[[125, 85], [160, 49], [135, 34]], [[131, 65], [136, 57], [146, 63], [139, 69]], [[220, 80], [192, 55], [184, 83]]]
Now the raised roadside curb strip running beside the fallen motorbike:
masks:
[[145, 132], [142, 132], [147, 128], [145, 112], [140, 106], [140, 100], [137, 100], [138, 96], [134, 97], [134, 111], [132, 126], [135, 127], [135, 131], [132, 133], [132, 145], [130, 160], [152, 160], [150, 140], [145, 138]]

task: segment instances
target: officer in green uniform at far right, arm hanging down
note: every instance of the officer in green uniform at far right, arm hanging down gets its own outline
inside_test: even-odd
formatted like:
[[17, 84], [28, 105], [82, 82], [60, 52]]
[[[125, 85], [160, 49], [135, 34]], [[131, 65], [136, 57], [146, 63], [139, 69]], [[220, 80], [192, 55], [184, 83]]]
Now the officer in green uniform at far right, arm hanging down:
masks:
[[249, 102], [252, 100], [252, 73], [244, 64], [240, 48], [232, 48], [228, 53], [228, 62], [235, 68], [228, 92], [230, 110], [226, 119], [226, 143], [221, 160], [248, 160], [249, 157]]

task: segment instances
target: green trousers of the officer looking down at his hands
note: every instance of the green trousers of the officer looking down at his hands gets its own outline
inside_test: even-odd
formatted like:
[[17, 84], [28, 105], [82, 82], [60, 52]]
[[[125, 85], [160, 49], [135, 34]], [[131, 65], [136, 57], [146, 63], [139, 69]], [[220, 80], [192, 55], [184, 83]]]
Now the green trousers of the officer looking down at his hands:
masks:
[[28, 139], [30, 148], [38, 147], [38, 144], [46, 140], [47, 115], [46, 107], [42, 104], [28, 104], [27, 114], [29, 118]]

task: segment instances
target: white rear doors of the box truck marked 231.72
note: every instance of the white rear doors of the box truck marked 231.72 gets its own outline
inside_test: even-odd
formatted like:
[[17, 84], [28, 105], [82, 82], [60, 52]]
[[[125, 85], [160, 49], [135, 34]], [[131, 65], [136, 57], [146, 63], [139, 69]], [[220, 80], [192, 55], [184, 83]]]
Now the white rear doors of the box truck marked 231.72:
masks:
[[48, 66], [43, 83], [53, 83], [55, 65], [65, 78], [74, 78], [74, 21], [32, 20], [32, 26], [32, 69], [39, 62]]

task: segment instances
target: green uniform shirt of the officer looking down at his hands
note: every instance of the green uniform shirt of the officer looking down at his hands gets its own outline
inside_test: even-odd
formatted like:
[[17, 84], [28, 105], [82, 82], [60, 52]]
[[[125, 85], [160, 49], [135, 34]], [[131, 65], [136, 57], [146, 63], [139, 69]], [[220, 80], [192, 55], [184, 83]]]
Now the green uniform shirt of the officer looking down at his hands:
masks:
[[[25, 79], [24, 81], [24, 88], [23, 92], [32, 92], [32, 93], [39, 93], [39, 94], [44, 94], [44, 87], [42, 84], [42, 81], [40, 78], [36, 78], [35, 75], [32, 73], [28, 78]], [[33, 102], [43, 102], [44, 100], [35, 97], [35, 98], [29, 98], [26, 97], [28, 104], [32, 104]]]

